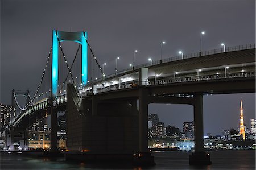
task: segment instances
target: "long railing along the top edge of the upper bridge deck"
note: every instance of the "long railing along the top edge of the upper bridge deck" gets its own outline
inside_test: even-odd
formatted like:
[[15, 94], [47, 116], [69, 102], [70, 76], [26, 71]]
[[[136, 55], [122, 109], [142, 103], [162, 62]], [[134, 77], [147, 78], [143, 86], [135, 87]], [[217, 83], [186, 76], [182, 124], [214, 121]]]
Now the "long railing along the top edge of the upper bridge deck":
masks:
[[[226, 47], [225, 52], [240, 51], [240, 50], [254, 49], [254, 48], [255, 48], [255, 44], [238, 45], [238, 46], [234, 46], [234, 47]], [[224, 48], [217, 48], [217, 49], [212, 49], [209, 51], [202, 51], [201, 56], [213, 55], [213, 54], [217, 54], [217, 53], [224, 53]], [[184, 54], [183, 59], [190, 59], [190, 58], [199, 57], [199, 56], [200, 56], [200, 52], [189, 53], [189, 54]], [[177, 60], [182, 60], [181, 55], [162, 59], [162, 63], [168, 63], [168, 62], [177, 61]], [[152, 63], [148, 62], [148, 63], [144, 63], [144, 64], [135, 65], [134, 69], [150, 67], [152, 65], [158, 65], [158, 64], [161, 64], [161, 61], [155, 60], [155, 61], [152, 61]], [[127, 71], [132, 71], [132, 70], [133, 70], [133, 68], [129, 67], [129, 68], [123, 69], [122, 71], [119, 71], [117, 73], [109, 74], [108, 76], [105, 76], [104, 79], [110, 78], [113, 76], [118, 76], [119, 74], [125, 73]], [[94, 81], [90, 82], [88, 85], [90, 85], [93, 82], [98, 82], [98, 81], [102, 81], [102, 78], [100, 78], [98, 80], [94, 80]]]

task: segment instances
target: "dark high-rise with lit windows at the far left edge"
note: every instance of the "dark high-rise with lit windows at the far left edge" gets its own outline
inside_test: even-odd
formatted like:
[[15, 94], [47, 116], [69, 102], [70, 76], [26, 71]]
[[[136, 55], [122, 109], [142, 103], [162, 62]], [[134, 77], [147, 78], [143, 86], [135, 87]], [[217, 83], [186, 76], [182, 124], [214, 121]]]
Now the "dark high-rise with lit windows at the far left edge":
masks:
[[0, 137], [3, 137], [6, 125], [9, 125], [11, 121], [11, 105], [0, 104]]

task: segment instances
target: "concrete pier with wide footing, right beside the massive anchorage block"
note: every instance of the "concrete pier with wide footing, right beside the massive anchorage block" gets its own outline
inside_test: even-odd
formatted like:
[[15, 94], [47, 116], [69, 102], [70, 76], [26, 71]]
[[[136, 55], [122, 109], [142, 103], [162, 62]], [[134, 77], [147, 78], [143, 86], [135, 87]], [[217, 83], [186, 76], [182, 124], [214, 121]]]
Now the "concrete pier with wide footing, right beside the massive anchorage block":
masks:
[[148, 150], [148, 89], [139, 89], [139, 153], [134, 154], [136, 165], [155, 165], [154, 156]]

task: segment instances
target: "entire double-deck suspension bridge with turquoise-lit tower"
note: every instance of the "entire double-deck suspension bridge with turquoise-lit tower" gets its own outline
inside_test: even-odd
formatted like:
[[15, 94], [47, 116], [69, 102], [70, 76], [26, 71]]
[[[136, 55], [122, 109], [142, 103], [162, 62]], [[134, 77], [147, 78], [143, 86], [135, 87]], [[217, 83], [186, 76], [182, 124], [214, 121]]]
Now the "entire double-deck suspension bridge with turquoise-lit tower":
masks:
[[[64, 41], [78, 43], [72, 62], [61, 45]], [[16, 109], [9, 126], [10, 145], [15, 130], [51, 115], [51, 150], [56, 151], [57, 112], [66, 111], [67, 158], [105, 154], [154, 163], [148, 150], [148, 104], [188, 104], [194, 107], [195, 121], [190, 163], [210, 164], [203, 148], [203, 95], [255, 92], [255, 44], [170, 57], [110, 75], [100, 65], [86, 32], [53, 30], [34, 96], [28, 90], [12, 92]], [[26, 97], [25, 106], [16, 96]]]

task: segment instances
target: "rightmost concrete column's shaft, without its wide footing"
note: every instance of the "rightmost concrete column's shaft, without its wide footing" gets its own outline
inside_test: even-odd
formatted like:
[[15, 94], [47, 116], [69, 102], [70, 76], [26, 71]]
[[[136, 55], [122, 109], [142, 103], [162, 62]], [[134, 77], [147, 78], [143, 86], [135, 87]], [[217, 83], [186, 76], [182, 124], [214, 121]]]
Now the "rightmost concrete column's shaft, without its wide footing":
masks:
[[203, 95], [195, 95], [194, 105], [195, 152], [204, 151]]

